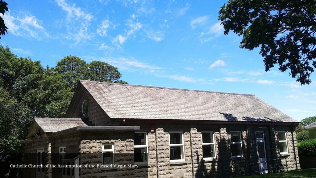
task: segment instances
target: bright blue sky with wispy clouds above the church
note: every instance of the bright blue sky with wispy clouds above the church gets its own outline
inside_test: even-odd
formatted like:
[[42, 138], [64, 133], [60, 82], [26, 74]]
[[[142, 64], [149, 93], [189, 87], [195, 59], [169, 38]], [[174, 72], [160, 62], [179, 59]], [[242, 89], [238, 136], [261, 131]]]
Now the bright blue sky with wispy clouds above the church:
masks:
[[255, 94], [296, 120], [316, 115], [316, 77], [301, 86], [258, 49], [223, 35], [226, 1], [7, 1], [0, 41], [20, 57], [54, 67], [66, 55], [106, 61], [130, 84]]

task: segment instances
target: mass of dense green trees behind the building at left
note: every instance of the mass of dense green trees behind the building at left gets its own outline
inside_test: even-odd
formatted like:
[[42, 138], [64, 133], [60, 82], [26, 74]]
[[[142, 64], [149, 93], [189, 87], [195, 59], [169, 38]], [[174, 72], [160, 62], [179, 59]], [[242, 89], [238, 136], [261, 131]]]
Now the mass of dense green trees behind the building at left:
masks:
[[[90, 70], [88, 71], [88, 65]], [[64, 117], [79, 79], [116, 83], [121, 74], [106, 62], [87, 64], [66, 56], [55, 67], [43, 68], [40, 61], [18, 58], [9, 47], [0, 46], [0, 177], [19, 177], [21, 140], [26, 139], [34, 117]]]

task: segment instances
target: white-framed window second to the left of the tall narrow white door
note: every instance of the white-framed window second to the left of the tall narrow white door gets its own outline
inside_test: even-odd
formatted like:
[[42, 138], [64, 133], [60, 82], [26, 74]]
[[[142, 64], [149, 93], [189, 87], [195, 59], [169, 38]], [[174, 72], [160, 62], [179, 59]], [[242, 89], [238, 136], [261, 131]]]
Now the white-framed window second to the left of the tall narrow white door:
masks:
[[215, 138], [214, 132], [212, 131], [202, 131], [202, 150], [203, 150], [203, 159], [215, 159]]

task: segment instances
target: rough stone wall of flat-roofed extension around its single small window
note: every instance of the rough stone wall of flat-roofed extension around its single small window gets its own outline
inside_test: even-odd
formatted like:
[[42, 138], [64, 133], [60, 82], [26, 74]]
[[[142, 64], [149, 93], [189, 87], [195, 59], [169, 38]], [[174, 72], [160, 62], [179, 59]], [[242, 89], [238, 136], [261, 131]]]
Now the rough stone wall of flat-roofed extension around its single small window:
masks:
[[[80, 164], [103, 164], [102, 145], [114, 144], [114, 164], [134, 165], [134, 131], [102, 132], [99, 134], [82, 135], [80, 142]], [[134, 168], [80, 168], [81, 178], [94, 177], [134, 177]]]

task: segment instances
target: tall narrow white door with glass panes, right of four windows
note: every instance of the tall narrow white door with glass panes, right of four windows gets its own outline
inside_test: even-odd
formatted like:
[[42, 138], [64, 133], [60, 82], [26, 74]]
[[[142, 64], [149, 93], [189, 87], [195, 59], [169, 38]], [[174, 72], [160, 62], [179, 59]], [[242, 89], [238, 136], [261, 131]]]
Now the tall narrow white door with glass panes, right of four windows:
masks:
[[258, 162], [260, 174], [268, 173], [267, 166], [267, 157], [265, 154], [265, 143], [264, 143], [264, 133], [263, 131], [256, 131], [256, 140], [257, 140], [257, 153], [258, 153]]

